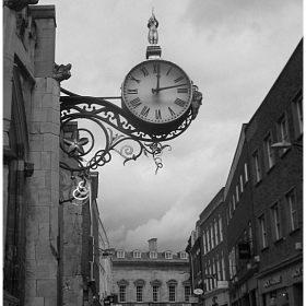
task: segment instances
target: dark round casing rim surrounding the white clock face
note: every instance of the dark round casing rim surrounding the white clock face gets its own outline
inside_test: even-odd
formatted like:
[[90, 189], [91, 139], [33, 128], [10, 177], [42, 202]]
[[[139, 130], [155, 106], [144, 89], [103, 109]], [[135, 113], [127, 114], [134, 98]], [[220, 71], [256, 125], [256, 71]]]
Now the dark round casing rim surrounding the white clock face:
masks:
[[[187, 102], [187, 107], [185, 107], [184, 113], [180, 114], [177, 118], [175, 118], [173, 120], [169, 120], [169, 121], [166, 121], [166, 122], [148, 121], [148, 120], [142, 119], [141, 117], [137, 116], [130, 109], [130, 107], [127, 105], [126, 99], [125, 99], [125, 91], [127, 90], [125, 87], [125, 84], [127, 82], [127, 79], [139, 67], [141, 67], [143, 64], [148, 64], [149, 62], [153, 62], [153, 61], [165, 62], [166, 64], [173, 66], [176, 69], [180, 70], [184, 73], [184, 75], [187, 78], [187, 83], [189, 83], [189, 86], [190, 86], [190, 97], [189, 97], [189, 101]], [[127, 75], [123, 79], [122, 85], [121, 85], [121, 106], [122, 106], [122, 109], [125, 110], [125, 113], [127, 114], [127, 118], [131, 121], [131, 123], [136, 128], [138, 128], [139, 130], [141, 130], [143, 132], [146, 132], [149, 134], [157, 136], [157, 134], [165, 134], [165, 133], [169, 133], [172, 131], [175, 131], [183, 123], [183, 121], [188, 117], [188, 115], [190, 114], [191, 102], [192, 102], [192, 81], [190, 80], [189, 75], [178, 64], [176, 64], [176, 63], [174, 63], [169, 60], [165, 60], [165, 59], [161, 59], [161, 58], [148, 59], [148, 60], [144, 60], [144, 61], [136, 64], [127, 73]]]

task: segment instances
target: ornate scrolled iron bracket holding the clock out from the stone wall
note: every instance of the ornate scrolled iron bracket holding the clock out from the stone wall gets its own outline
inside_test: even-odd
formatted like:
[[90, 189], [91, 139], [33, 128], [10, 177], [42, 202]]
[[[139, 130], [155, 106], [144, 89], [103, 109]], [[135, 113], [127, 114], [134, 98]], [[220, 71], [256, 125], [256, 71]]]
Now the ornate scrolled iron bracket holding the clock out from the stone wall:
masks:
[[[197, 108], [192, 103], [187, 118], [175, 131], [165, 134], [148, 134], [137, 129], [127, 119], [122, 108], [108, 101], [121, 97], [80, 96], [64, 89], [61, 89], [61, 93], [66, 95], [60, 97], [60, 148], [64, 156], [74, 162], [71, 160], [67, 163], [60, 162], [60, 167], [69, 170], [71, 177], [78, 173], [83, 179], [83, 185], [86, 184], [86, 177], [91, 170], [110, 162], [111, 151], [123, 157], [123, 165], [128, 161], [136, 161], [142, 153], [146, 156], [152, 155], [156, 165], [156, 174], [163, 167], [161, 156], [164, 149], [170, 150], [169, 145], [162, 144], [162, 142], [175, 139], [185, 132], [196, 118], [201, 104], [200, 101]], [[195, 86], [195, 97], [199, 98], [199, 94], [201, 96]], [[87, 125], [82, 127], [80, 119], [87, 120]], [[70, 125], [76, 120], [80, 123], [71, 129]], [[89, 125], [97, 127], [98, 134], [94, 136]], [[70, 134], [68, 136], [69, 130]], [[118, 132], [115, 133], [114, 130]], [[82, 187], [80, 188], [82, 189]], [[78, 195], [73, 193], [73, 197], [78, 199]], [[71, 200], [61, 200], [61, 203]]]

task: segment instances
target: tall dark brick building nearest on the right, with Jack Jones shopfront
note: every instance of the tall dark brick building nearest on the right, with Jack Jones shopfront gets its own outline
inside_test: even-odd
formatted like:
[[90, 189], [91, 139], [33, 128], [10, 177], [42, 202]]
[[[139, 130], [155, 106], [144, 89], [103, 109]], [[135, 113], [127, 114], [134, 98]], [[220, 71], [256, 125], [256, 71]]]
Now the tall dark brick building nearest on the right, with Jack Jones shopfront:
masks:
[[[260, 305], [303, 297], [303, 40], [246, 128], [252, 164]], [[279, 142], [289, 149], [271, 149]]]

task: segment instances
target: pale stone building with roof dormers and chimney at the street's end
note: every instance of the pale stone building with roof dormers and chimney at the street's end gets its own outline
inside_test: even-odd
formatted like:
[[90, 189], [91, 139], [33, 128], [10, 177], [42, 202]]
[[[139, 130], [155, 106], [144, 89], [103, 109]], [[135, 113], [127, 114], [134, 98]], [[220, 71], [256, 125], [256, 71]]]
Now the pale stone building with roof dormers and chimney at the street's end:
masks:
[[113, 293], [120, 305], [191, 305], [189, 261], [186, 251], [116, 250], [113, 257]]

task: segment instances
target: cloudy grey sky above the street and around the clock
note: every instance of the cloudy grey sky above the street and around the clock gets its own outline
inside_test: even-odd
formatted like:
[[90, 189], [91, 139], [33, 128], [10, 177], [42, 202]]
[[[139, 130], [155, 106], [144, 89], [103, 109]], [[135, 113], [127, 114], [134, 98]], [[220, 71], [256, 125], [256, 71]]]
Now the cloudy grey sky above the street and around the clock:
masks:
[[[151, 157], [99, 169], [98, 208], [111, 247], [180, 251], [205, 205], [225, 185], [248, 122], [303, 36], [302, 0], [40, 0], [56, 5], [56, 62], [71, 63], [61, 86], [120, 96], [125, 75], [145, 60], [152, 8], [162, 58], [203, 94], [189, 129]], [[98, 131], [95, 132], [96, 140]]]

